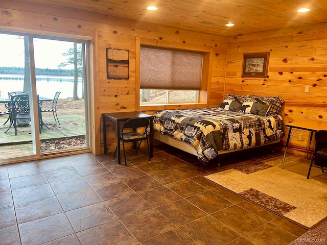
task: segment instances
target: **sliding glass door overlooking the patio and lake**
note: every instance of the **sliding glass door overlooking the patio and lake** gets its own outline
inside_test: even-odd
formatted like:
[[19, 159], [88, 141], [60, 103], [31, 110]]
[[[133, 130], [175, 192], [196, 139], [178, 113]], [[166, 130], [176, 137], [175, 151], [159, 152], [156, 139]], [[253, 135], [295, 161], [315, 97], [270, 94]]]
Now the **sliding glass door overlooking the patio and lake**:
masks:
[[[0, 160], [88, 148], [86, 42], [0, 38]], [[29, 118], [14, 122], [12, 92], [29, 95]]]

